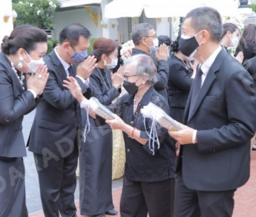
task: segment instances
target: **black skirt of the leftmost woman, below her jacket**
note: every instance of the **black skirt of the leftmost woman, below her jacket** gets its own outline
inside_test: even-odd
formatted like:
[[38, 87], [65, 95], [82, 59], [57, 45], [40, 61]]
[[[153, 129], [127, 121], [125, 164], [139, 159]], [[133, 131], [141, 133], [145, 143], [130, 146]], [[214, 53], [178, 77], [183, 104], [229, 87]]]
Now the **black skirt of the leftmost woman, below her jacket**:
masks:
[[24, 161], [0, 157], [0, 217], [26, 216]]

